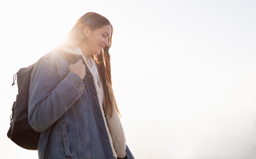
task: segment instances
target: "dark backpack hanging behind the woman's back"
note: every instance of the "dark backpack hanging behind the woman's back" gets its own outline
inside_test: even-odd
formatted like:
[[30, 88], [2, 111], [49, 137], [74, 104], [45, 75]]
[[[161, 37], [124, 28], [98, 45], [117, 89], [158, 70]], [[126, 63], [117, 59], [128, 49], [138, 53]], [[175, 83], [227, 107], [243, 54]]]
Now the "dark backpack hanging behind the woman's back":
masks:
[[[27, 150], [37, 150], [40, 132], [36, 132], [28, 123], [28, 99], [30, 74], [34, 69], [34, 64], [21, 68], [17, 74], [18, 94], [16, 101], [12, 105], [10, 116], [10, 128], [7, 136], [18, 146]], [[13, 84], [15, 82], [13, 75]]]

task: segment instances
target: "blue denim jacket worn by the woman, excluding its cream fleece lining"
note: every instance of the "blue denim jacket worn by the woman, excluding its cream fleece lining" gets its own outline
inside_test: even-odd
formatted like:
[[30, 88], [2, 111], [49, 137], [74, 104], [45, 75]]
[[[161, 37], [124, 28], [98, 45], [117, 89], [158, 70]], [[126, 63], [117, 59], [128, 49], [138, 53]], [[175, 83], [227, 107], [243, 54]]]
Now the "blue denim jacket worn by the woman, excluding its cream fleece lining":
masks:
[[[41, 132], [39, 159], [115, 159], [88, 67], [83, 80], [69, 72], [79, 58], [51, 52], [31, 73], [28, 120]], [[128, 146], [126, 157], [134, 159]]]

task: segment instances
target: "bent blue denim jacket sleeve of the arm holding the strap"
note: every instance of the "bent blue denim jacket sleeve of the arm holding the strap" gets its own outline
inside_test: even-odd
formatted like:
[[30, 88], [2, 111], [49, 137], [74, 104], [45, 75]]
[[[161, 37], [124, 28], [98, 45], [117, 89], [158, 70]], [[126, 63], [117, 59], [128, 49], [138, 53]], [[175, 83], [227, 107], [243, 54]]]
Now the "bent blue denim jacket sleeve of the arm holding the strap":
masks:
[[81, 97], [84, 83], [70, 72], [59, 82], [52, 60], [43, 58], [36, 63], [31, 73], [28, 102], [28, 121], [31, 127], [42, 132]]

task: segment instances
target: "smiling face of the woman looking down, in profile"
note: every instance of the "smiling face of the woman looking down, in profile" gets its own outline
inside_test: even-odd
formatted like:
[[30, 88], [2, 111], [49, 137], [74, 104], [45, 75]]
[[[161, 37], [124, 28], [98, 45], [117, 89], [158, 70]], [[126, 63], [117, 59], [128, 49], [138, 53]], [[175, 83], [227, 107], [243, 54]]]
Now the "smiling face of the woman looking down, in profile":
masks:
[[88, 53], [99, 55], [101, 50], [109, 45], [108, 40], [111, 36], [111, 32], [111, 25], [105, 25], [99, 29], [95, 29], [94, 31], [89, 28], [86, 39]]

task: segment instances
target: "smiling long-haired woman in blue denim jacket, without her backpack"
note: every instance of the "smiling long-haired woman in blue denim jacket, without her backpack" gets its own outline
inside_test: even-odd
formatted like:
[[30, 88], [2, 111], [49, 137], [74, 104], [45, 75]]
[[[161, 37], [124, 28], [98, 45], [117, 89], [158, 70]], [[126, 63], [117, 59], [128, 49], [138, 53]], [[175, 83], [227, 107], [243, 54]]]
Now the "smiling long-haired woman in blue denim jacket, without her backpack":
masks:
[[29, 124], [41, 132], [41, 159], [134, 159], [112, 90], [109, 48], [112, 25], [83, 15], [61, 47], [31, 73]]

